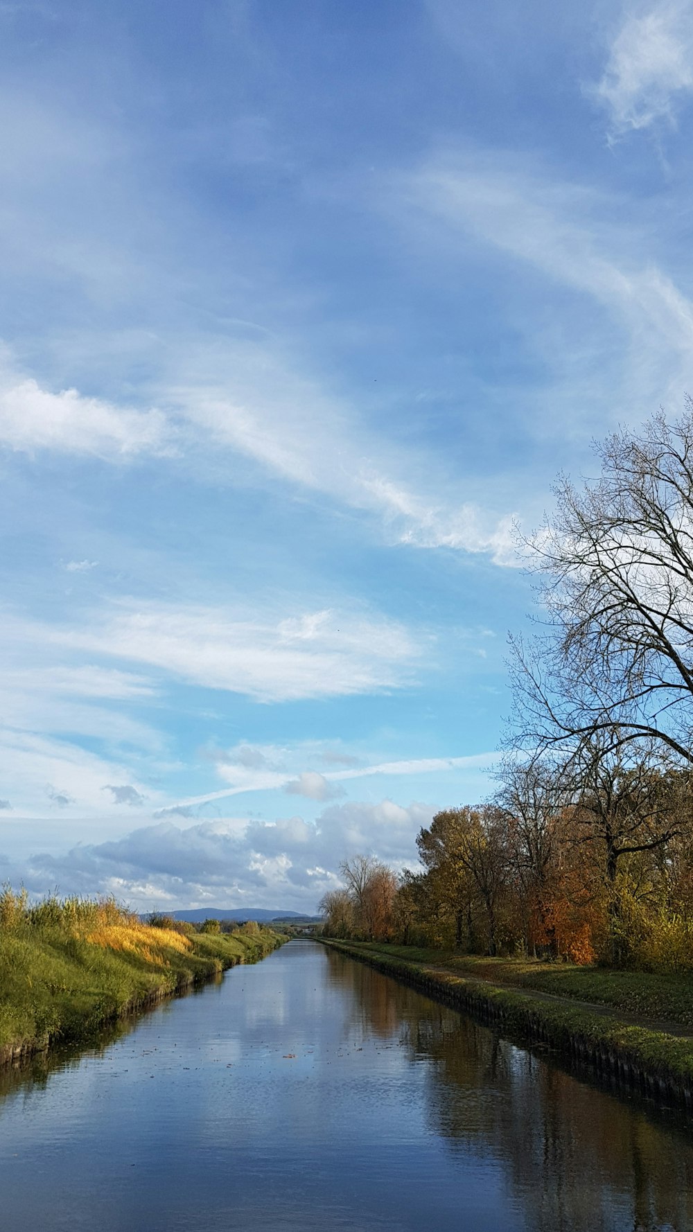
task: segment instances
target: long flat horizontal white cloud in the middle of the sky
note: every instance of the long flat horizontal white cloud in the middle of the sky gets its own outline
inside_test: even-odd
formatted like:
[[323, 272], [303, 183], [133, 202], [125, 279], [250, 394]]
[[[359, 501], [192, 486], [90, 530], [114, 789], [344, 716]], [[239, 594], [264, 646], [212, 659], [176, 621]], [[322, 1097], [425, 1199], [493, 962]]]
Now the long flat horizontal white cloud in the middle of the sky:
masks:
[[72, 649], [147, 663], [259, 701], [376, 692], [411, 683], [422, 647], [397, 621], [354, 611], [290, 617], [122, 601], [89, 626], [47, 631]]

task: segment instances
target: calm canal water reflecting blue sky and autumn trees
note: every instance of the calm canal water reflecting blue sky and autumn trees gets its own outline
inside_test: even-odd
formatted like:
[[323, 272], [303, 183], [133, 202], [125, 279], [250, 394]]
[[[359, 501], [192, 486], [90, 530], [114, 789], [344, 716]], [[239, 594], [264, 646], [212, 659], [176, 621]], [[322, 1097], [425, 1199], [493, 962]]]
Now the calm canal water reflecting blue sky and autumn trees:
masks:
[[673, 1114], [292, 941], [5, 1076], [12, 1232], [691, 1232]]

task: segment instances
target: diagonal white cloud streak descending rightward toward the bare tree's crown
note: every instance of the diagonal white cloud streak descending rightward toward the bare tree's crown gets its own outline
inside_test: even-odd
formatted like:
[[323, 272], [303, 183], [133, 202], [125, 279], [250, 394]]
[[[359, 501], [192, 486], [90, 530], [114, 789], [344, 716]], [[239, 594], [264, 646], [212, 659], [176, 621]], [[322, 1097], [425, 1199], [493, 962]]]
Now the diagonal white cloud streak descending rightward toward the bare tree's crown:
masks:
[[191, 376], [162, 389], [162, 400], [197, 430], [197, 442], [202, 429], [215, 448], [226, 446], [275, 479], [371, 515], [393, 542], [515, 563], [511, 511], [497, 517], [460, 500], [438, 480], [433, 456], [413, 457], [374, 431], [276, 342], [228, 344], [223, 356], [212, 349], [195, 360]]

